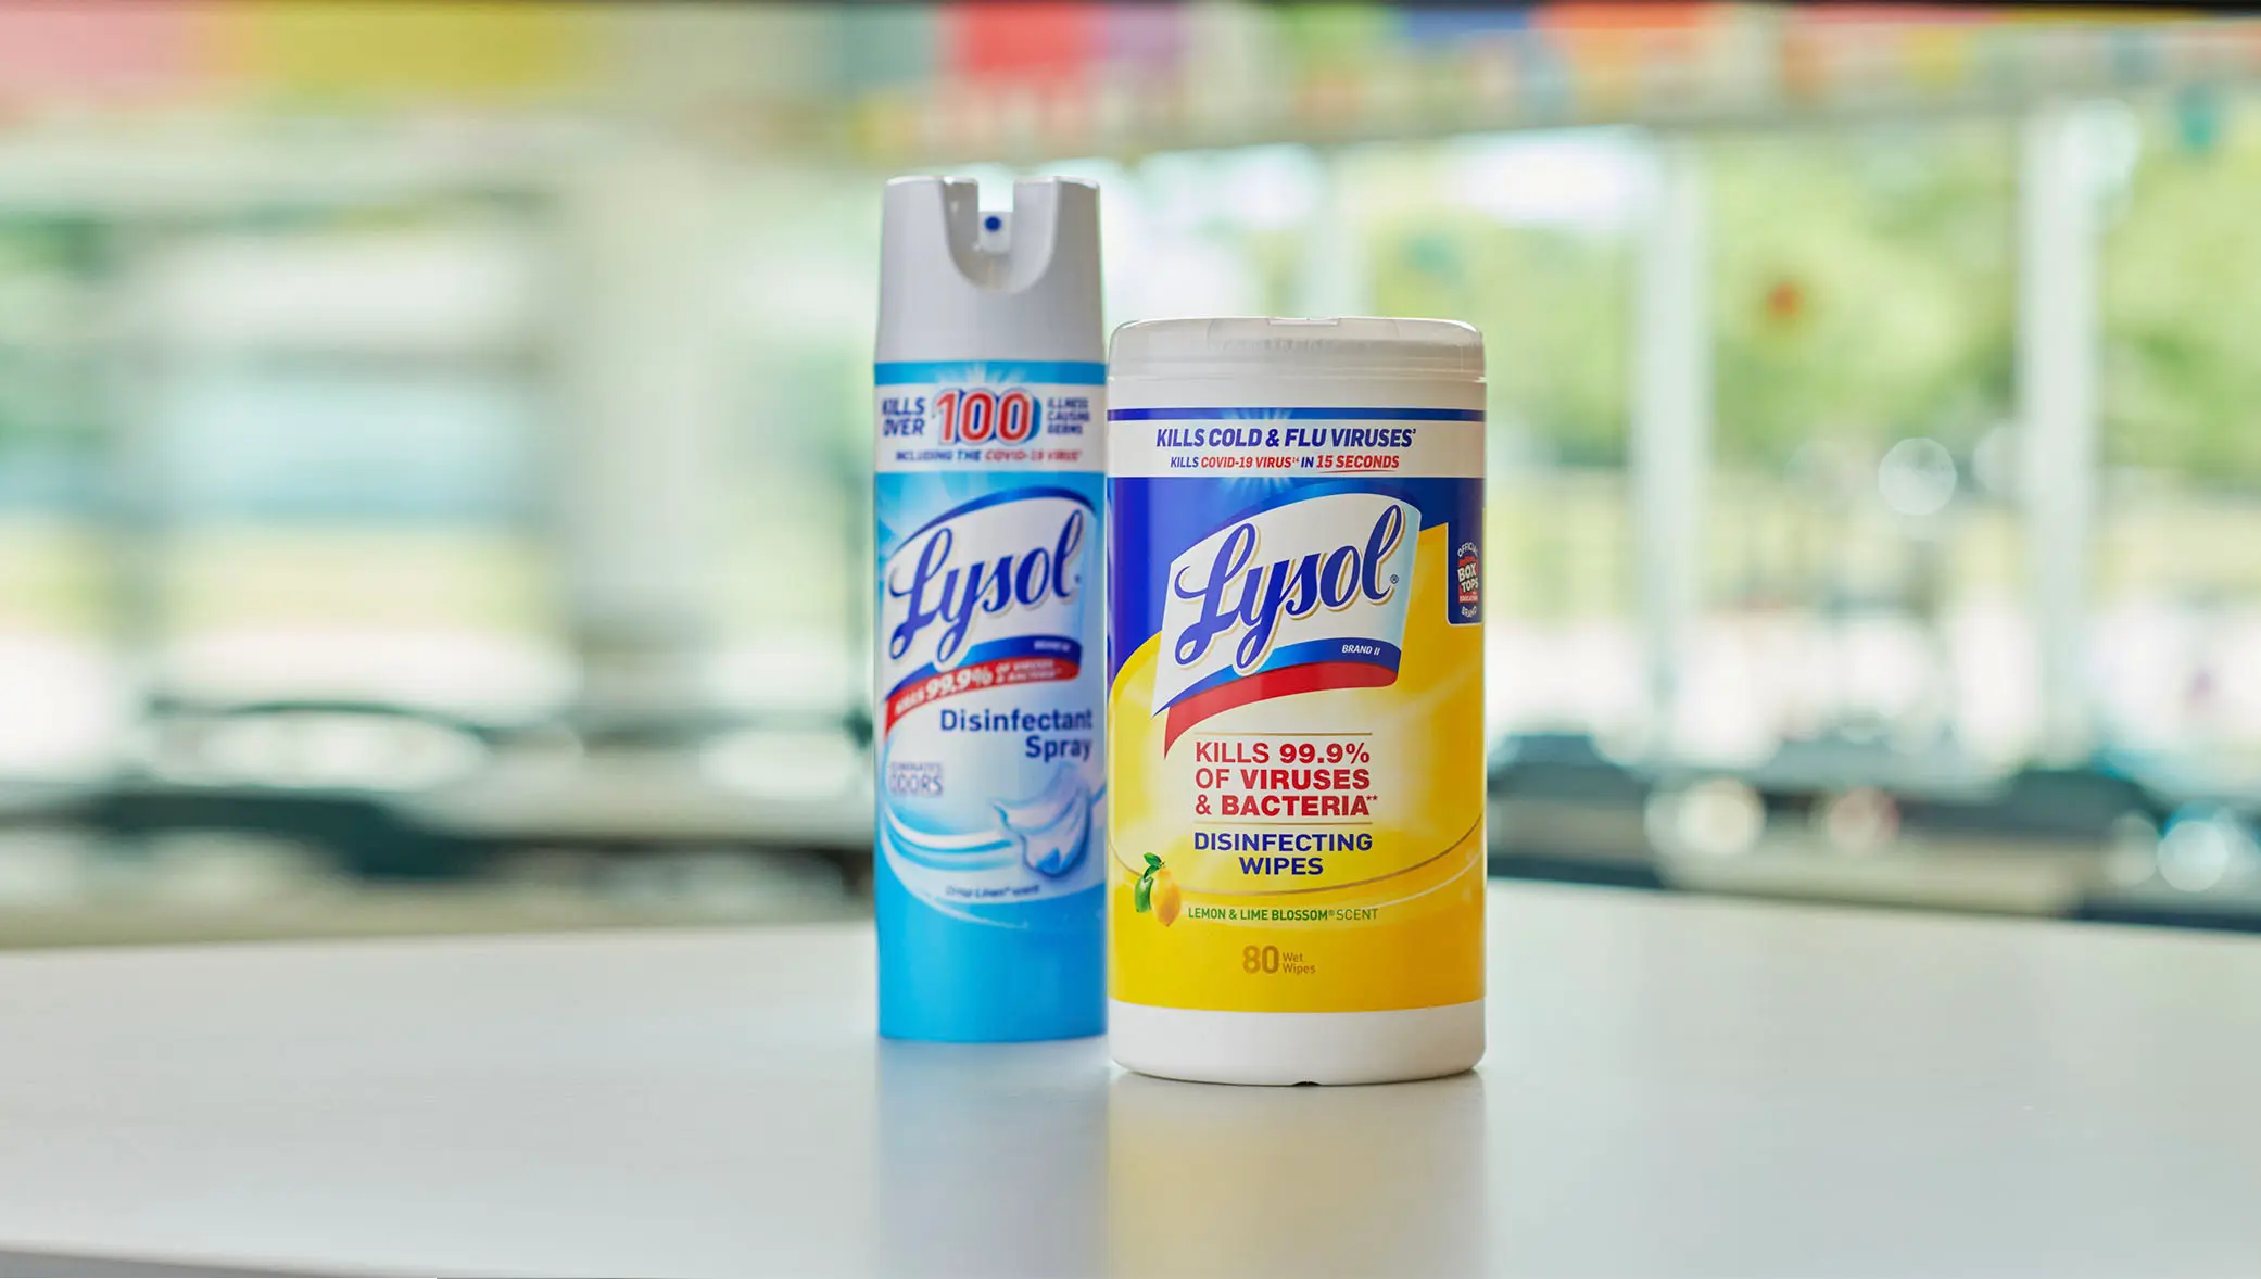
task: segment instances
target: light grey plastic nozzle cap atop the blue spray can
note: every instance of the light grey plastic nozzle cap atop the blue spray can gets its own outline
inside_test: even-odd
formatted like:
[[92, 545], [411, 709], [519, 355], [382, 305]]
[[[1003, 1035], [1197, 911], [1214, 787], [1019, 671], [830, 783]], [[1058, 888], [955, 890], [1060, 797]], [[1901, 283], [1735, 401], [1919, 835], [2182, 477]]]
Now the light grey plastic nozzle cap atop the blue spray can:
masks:
[[1011, 212], [981, 212], [972, 179], [886, 183], [877, 355], [1106, 359], [1099, 188], [1022, 179]]

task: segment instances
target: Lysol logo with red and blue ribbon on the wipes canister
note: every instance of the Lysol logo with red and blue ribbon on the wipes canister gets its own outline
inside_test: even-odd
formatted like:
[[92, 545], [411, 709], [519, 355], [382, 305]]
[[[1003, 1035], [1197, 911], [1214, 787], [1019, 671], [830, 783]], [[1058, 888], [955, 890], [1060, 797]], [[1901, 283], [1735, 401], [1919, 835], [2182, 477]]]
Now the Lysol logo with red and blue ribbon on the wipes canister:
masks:
[[1377, 493], [1237, 520], [1169, 565], [1153, 712], [1162, 748], [1237, 705], [1397, 680], [1420, 508]]

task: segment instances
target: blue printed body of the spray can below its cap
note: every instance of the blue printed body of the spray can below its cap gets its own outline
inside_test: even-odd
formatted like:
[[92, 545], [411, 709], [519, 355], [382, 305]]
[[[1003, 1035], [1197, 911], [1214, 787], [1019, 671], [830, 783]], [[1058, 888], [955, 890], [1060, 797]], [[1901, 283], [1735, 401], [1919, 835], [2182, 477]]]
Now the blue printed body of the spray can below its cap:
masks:
[[882, 364], [882, 1033], [1090, 1035], [1106, 838], [1099, 366]]

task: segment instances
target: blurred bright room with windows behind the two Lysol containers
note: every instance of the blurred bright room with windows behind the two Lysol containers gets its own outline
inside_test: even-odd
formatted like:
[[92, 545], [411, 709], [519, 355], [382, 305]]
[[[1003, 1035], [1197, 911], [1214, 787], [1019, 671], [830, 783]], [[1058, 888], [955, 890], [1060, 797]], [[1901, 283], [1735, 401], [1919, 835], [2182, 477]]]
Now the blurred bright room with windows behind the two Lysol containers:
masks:
[[0, 945], [868, 908], [895, 172], [1490, 346], [1492, 870], [2261, 929], [2261, 23], [0, 0]]

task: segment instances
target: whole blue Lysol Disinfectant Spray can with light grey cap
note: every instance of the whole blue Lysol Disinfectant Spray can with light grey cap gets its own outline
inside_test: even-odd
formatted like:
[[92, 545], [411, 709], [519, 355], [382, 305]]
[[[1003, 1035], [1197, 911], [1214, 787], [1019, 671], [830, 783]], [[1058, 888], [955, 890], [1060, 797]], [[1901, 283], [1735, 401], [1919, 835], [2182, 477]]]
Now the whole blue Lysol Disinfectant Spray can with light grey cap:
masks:
[[886, 185], [880, 1033], [1106, 1028], [1099, 192]]

